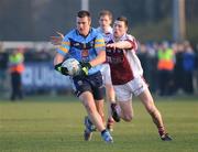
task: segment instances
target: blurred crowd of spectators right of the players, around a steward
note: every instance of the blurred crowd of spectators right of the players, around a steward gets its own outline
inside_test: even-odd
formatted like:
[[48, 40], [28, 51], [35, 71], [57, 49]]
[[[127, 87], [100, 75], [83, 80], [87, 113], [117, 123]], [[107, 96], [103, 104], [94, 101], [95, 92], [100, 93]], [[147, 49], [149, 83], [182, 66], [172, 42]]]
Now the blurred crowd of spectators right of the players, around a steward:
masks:
[[196, 91], [198, 52], [188, 41], [140, 44], [138, 54], [150, 89], [156, 95], [193, 95]]

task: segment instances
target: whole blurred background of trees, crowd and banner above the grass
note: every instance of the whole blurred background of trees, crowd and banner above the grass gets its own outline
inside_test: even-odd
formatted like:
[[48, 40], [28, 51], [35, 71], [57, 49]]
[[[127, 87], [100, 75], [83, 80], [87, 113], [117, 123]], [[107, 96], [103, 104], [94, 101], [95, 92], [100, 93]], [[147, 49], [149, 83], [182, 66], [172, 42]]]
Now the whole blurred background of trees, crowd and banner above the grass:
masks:
[[[129, 33], [139, 41], [138, 55], [153, 94], [197, 95], [197, 0], [0, 0], [0, 97], [10, 98], [10, 55], [15, 50], [24, 55], [24, 95], [72, 93], [69, 78], [53, 69], [55, 47], [48, 41], [55, 31], [73, 29], [80, 9], [91, 12], [95, 28], [105, 9], [114, 19], [129, 19]], [[166, 51], [173, 53], [173, 68], [160, 66], [160, 52]]]

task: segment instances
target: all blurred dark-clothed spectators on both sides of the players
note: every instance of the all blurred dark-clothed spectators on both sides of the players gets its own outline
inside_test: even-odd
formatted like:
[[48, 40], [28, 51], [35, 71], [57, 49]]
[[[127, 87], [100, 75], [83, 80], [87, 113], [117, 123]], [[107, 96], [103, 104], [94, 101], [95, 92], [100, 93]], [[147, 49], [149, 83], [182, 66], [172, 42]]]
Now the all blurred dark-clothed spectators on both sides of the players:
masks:
[[[0, 52], [0, 86], [7, 88], [9, 56], [13, 50]], [[54, 56], [54, 48], [24, 48], [24, 63], [50, 62]], [[144, 69], [152, 93], [160, 96], [177, 94], [193, 95], [198, 89], [198, 47], [188, 41], [183, 43], [141, 43], [138, 56]]]

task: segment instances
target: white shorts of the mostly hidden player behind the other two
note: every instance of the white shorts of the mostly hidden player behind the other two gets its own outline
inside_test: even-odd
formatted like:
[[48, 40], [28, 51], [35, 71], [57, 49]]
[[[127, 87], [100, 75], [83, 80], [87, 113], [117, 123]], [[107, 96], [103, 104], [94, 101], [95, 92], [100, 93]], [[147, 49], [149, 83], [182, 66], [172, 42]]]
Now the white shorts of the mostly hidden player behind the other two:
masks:
[[106, 84], [112, 85], [112, 82], [111, 82], [111, 72], [110, 72], [109, 64], [107, 64], [107, 63], [102, 64], [100, 72], [102, 74], [103, 84], [105, 85]]

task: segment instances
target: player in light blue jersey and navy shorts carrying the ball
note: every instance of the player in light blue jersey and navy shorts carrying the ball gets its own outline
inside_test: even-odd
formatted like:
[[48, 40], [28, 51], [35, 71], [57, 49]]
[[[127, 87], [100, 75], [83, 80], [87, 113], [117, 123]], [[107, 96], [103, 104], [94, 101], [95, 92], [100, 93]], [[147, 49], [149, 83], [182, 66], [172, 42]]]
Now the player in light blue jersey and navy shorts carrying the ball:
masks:
[[[55, 69], [63, 75], [68, 75], [68, 70], [62, 66], [65, 55], [76, 58], [81, 63], [80, 75], [73, 77], [74, 89], [77, 97], [85, 106], [88, 118], [85, 120], [86, 133], [92, 132], [92, 123], [98, 131], [101, 132], [101, 138], [108, 142], [113, 142], [109, 131], [106, 129], [102, 121], [103, 109], [103, 86], [102, 76], [100, 73], [100, 64], [106, 61], [105, 40], [96, 29], [91, 28], [91, 18], [88, 11], [79, 11], [76, 17], [77, 28], [72, 30], [63, 39], [62, 45], [57, 48], [57, 54], [54, 58]], [[86, 138], [90, 140], [90, 138]]]

